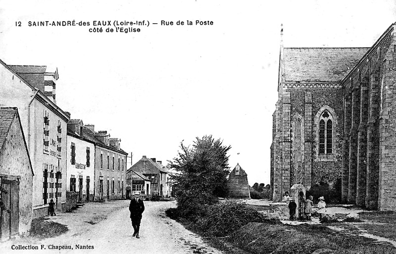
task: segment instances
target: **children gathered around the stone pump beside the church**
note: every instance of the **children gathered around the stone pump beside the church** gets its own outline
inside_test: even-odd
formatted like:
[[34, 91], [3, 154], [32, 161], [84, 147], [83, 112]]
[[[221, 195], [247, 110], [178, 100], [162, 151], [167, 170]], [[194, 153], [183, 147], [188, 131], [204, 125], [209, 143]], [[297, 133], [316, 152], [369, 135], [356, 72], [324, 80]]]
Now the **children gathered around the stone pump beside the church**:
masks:
[[[298, 219], [308, 219], [311, 220], [312, 206], [313, 206], [313, 197], [309, 196], [308, 199], [304, 200], [304, 194], [302, 192], [299, 193], [299, 202], [298, 202]], [[326, 208], [326, 203], [324, 201], [324, 197], [319, 198], [318, 203], [318, 212], [320, 213], [322, 210]], [[297, 203], [294, 201], [294, 198], [289, 196], [289, 192], [285, 193], [285, 196], [282, 199], [282, 202], [289, 202], [289, 213], [290, 220], [294, 220], [296, 216]]]

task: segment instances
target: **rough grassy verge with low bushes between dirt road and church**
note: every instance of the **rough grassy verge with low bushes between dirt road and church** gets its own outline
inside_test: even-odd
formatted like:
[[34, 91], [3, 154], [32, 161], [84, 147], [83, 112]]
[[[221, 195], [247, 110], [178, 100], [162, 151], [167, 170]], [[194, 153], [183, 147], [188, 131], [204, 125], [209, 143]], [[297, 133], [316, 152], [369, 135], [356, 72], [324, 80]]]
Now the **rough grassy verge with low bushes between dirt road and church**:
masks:
[[[359, 236], [365, 229], [370, 234], [395, 239], [396, 212], [362, 212], [357, 220], [319, 225], [288, 225], [252, 216], [267, 209], [264, 205], [223, 203], [210, 206], [196, 220], [178, 217], [175, 209], [167, 214], [228, 254], [311, 254], [318, 249], [331, 249], [337, 254], [396, 254], [390, 243]], [[242, 223], [240, 219], [246, 216], [248, 219]]]

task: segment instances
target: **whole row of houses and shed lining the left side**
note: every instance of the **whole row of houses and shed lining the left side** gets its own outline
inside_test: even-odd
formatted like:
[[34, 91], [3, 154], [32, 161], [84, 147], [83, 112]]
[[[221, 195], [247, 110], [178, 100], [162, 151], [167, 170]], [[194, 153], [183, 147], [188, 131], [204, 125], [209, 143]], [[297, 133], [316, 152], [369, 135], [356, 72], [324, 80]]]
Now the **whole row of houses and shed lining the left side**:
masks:
[[0, 60], [0, 240], [27, 233], [50, 200], [65, 211], [75, 199], [126, 197], [121, 140], [58, 107], [58, 78], [57, 69]]

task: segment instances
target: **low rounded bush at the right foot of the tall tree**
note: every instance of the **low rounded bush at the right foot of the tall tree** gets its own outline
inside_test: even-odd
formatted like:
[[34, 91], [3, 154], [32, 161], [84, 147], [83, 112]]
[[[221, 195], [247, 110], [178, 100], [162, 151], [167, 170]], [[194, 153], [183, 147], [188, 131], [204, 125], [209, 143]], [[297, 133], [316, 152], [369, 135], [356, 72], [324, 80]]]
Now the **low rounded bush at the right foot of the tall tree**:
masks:
[[208, 207], [197, 226], [204, 236], [225, 236], [249, 222], [264, 222], [264, 219], [245, 203], [227, 202]]

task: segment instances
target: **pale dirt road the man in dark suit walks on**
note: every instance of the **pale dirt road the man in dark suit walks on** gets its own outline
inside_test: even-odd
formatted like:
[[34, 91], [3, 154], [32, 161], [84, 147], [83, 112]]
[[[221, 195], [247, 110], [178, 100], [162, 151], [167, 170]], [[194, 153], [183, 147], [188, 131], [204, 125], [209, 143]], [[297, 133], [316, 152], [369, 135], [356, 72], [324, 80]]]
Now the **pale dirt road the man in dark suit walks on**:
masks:
[[[72, 213], [59, 213], [51, 220], [65, 224], [69, 231], [44, 240], [24, 238], [3, 243], [1, 253], [116, 253], [116, 254], [220, 254], [200, 237], [169, 219], [165, 210], [175, 202], [145, 202], [140, 239], [132, 237], [129, 201], [87, 203]], [[38, 250], [12, 250], [12, 248]], [[77, 246], [78, 245], [78, 246]], [[12, 247], [14, 246], [14, 247]], [[71, 248], [60, 249], [59, 248]], [[79, 249], [83, 248], [83, 249]], [[88, 249], [90, 248], [90, 249]], [[92, 249], [93, 248], [93, 249]], [[51, 250], [50, 250], [51, 249]]]

